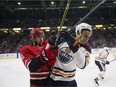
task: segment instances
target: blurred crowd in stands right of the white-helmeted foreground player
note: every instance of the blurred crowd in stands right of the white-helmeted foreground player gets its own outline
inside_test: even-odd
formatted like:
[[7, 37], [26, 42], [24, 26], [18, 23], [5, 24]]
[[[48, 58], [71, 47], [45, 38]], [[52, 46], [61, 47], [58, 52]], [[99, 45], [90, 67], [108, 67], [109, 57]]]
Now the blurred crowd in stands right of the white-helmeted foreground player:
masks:
[[116, 30], [94, 30], [89, 44], [92, 48], [116, 47]]

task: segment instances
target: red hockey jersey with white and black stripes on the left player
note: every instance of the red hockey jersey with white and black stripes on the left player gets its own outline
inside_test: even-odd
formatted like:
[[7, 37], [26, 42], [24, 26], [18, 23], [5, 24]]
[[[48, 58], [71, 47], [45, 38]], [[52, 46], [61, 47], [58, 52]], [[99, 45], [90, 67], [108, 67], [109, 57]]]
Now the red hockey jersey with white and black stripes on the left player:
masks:
[[[42, 46], [27, 45], [20, 49], [22, 61], [26, 68], [30, 71], [30, 79], [40, 80], [46, 79], [50, 75], [50, 69], [55, 63], [58, 49], [45, 49], [47, 41]], [[45, 51], [45, 55], [42, 53]], [[48, 58], [45, 62], [43, 59]]]

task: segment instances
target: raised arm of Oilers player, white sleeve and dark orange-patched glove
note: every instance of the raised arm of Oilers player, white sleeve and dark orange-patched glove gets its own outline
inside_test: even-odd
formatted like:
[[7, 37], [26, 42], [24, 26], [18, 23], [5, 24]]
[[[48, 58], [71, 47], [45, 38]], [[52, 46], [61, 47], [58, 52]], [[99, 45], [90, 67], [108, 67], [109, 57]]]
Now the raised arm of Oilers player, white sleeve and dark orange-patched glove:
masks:
[[61, 31], [61, 37], [66, 39], [69, 48], [74, 53], [77, 67], [84, 69], [89, 64], [90, 48], [86, 45], [81, 45], [72, 35], [66, 31]]

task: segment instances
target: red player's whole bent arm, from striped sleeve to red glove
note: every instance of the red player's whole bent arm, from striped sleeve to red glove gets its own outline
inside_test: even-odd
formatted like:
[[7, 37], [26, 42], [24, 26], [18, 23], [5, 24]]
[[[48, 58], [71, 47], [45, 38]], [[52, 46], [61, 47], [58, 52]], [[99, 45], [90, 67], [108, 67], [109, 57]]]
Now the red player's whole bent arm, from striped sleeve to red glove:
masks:
[[48, 47], [47, 49], [43, 50], [40, 55], [33, 58], [31, 54], [28, 53], [28, 49], [21, 49], [20, 54], [22, 56], [22, 60], [24, 62], [24, 65], [31, 71], [35, 72], [45, 64], [48, 64], [49, 67], [52, 67], [54, 63], [51, 61], [56, 59], [57, 56], [57, 48], [54, 50], [51, 50], [51, 47]]

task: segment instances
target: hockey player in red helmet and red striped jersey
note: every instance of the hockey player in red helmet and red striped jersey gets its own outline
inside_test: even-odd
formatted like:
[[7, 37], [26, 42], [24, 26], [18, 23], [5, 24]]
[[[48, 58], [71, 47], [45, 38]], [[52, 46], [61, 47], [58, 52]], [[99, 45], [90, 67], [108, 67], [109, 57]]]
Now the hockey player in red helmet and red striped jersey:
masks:
[[57, 48], [52, 49], [39, 28], [32, 29], [30, 38], [32, 44], [20, 49], [22, 61], [30, 71], [30, 87], [45, 87], [50, 69], [55, 63]]

